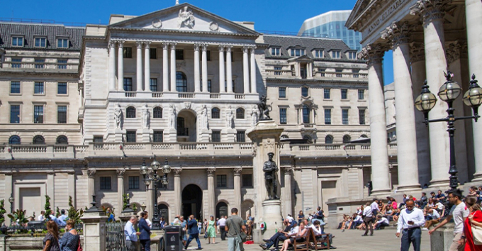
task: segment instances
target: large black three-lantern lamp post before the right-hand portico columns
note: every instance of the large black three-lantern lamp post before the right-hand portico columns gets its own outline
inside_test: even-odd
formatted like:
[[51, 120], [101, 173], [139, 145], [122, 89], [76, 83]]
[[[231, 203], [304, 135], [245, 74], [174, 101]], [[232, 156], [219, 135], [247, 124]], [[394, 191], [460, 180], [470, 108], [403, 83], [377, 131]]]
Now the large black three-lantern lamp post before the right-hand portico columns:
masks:
[[429, 91], [427, 81], [425, 81], [425, 84], [422, 87], [422, 93], [420, 96], [417, 96], [417, 99], [415, 99], [415, 108], [417, 108], [418, 111], [423, 112], [425, 116], [425, 125], [432, 122], [447, 122], [447, 132], [449, 132], [450, 140], [450, 189], [455, 190], [459, 185], [459, 179], [456, 176], [458, 171], [455, 165], [454, 122], [472, 118], [477, 122], [477, 119], [481, 117], [478, 115], [478, 106], [482, 104], [482, 88], [478, 86], [476, 76], [472, 74], [469, 90], [464, 94], [464, 104], [472, 108], [473, 116], [456, 117], [454, 116], [455, 109], [452, 107], [452, 104], [454, 100], [460, 96], [462, 89], [457, 82], [452, 81], [452, 78], [454, 77], [452, 72], [447, 71], [447, 73], [444, 72], [444, 74], [447, 82], [440, 87], [438, 96], [442, 101], [447, 102], [449, 105], [449, 108], [447, 109], [448, 116], [446, 118], [428, 119], [428, 113], [437, 103], [437, 97]]

